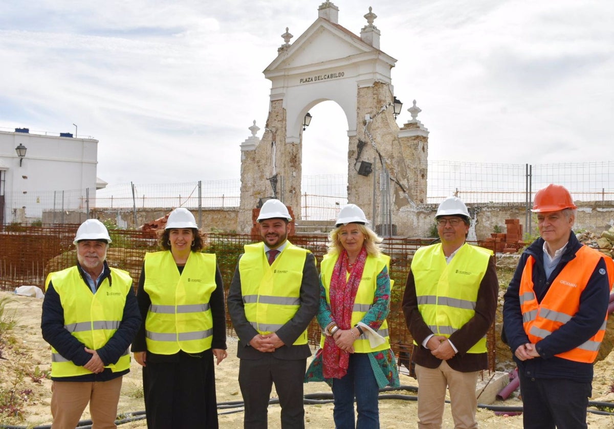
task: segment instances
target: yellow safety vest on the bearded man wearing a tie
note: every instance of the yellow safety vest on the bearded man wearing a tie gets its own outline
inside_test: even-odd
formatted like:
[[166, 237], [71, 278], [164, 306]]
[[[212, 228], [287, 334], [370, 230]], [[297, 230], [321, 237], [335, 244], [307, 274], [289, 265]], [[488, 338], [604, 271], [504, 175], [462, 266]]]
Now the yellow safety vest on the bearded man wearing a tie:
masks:
[[[245, 317], [258, 333], [276, 332], [300, 308], [303, 267], [309, 251], [288, 241], [269, 265], [264, 243], [244, 248], [245, 253], [239, 260], [239, 275]], [[294, 346], [299, 344], [307, 344], [307, 330], [293, 343]]]

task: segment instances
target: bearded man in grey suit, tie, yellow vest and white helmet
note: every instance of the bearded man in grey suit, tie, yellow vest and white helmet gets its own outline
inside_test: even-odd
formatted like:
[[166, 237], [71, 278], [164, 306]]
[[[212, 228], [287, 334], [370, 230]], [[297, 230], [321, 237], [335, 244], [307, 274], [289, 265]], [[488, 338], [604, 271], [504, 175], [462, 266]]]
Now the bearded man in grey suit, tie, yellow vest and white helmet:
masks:
[[244, 427], [267, 427], [271, 387], [281, 405], [281, 427], [305, 427], [303, 376], [311, 349], [307, 327], [319, 304], [316, 259], [287, 240], [290, 214], [268, 200], [260, 209], [262, 241], [246, 245], [228, 292], [228, 313], [239, 336], [239, 386]]

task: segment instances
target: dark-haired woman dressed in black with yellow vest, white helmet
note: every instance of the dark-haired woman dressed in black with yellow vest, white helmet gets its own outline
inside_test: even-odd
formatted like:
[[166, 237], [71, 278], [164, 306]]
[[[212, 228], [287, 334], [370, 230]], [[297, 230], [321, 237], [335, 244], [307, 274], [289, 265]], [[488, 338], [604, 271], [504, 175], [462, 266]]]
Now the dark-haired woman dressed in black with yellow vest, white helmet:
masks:
[[147, 253], [137, 300], [143, 324], [132, 345], [143, 366], [147, 427], [217, 428], [216, 358], [226, 353], [226, 314], [216, 255], [185, 208], [169, 214]]

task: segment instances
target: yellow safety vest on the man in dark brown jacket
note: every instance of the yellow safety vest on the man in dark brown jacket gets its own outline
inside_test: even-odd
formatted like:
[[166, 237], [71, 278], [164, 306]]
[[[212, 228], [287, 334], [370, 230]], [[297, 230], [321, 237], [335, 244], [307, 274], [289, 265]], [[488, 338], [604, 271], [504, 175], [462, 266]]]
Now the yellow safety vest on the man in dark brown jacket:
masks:
[[[441, 244], [418, 249], [411, 262], [418, 309], [435, 335], [448, 338], [475, 314], [492, 251], [465, 243], [449, 264]], [[416, 341], [414, 341], [416, 344]], [[486, 353], [486, 336], [467, 353]]]

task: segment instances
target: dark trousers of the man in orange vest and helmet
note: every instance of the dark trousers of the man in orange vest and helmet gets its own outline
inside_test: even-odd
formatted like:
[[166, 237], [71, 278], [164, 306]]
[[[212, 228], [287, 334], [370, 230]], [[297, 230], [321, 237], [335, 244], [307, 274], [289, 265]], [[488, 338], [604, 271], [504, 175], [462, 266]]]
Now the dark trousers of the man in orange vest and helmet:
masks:
[[524, 429], [586, 428], [590, 382], [564, 378], [535, 379], [518, 373]]

